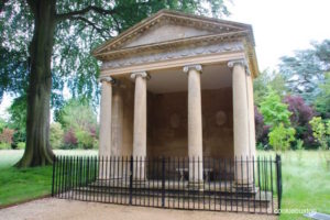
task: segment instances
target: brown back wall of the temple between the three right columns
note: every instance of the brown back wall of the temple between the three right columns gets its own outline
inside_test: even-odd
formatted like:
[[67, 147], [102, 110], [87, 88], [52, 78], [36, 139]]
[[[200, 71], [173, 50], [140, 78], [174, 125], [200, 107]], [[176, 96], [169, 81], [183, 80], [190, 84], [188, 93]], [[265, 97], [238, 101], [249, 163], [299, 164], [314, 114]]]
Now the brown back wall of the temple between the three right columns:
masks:
[[[202, 90], [204, 156], [233, 156], [232, 90]], [[148, 95], [147, 155], [187, 156], [187, 92]]]

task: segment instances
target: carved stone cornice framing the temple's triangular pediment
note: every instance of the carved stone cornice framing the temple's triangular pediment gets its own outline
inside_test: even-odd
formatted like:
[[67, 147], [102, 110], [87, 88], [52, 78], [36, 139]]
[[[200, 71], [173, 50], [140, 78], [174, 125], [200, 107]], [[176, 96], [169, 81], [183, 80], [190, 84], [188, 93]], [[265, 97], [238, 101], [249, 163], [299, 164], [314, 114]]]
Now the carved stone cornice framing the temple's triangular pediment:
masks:
[[[156, 42], [157, 45], [145, 44], [145, 45], [125, 47], [125, 45], [135, 41], [143, 34], [145, 33], [147, 34], [148, 30], [157, 29], [157, 26], [164, 24], [189, 26], [197, 30], [209, 31], [210, 34], [191, 36], [191, 37], [182, 37], [182, 38], [175, 38], [175, 40], [164, 41], [164, 42]], [[154, 14], [153, 16], [143, 20], [142, 22], [134, 25], [133, 28], [121, 33], [119, 36], [106, 42], [105, 44], [96, 48], [92, 52], [92, 54], [97, 58], [105, 61], [106, 54], [110, 58], [117, 53], [121, 54], [124, 51], [131, 52], [138, 50], [138, 47], [141, 47], [141, 50], [145, 50], [145, 48], [153, 48], [158, 45], [161, 46], [161, 45], [183, 43], [183, 42], [189, 43], [194, 40], [198, 41], [199, 38], [215, 38], [216, 36], [223, 37], [223, 38], [227, 38], [229, 36], [235, 37], [238, 34], [242, 34], [242, 33], [244, 33], [245, 36], [250, 37], [250, 40], [253, 43], [252, 29], [251, 25], [249, 24], [242, 24], [238, 22], [162, 10], [158, 13]]]

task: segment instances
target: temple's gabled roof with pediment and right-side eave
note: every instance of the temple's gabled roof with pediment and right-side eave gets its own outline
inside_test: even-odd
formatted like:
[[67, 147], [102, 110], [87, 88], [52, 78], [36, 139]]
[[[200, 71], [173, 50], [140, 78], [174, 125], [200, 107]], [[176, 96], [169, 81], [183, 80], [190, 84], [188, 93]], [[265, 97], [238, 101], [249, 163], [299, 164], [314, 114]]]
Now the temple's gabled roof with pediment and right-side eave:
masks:
[[[146, 53], [180, 45], [244, 40], [248, 59], [257, 72], [254, 37], [250, 24], [161, 10], [92, 51], [100, 61]], [[257, 75], [257, 73], [254, 73]]]

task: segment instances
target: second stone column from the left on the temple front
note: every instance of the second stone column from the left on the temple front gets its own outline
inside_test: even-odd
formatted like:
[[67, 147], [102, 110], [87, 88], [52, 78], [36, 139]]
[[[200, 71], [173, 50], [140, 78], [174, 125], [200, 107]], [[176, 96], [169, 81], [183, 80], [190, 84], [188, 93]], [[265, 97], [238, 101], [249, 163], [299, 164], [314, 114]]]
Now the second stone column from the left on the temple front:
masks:
[[[150, 75], [145, 72], [133, 73], [131, 78], [135, 79], [134, 94], [134, 125], [133, 125], [133, 157], [135, 182], [145, 180], [144, 161], [146, 156], [146, 80]], [[142, 161], [141, 161], [142, 160]]]

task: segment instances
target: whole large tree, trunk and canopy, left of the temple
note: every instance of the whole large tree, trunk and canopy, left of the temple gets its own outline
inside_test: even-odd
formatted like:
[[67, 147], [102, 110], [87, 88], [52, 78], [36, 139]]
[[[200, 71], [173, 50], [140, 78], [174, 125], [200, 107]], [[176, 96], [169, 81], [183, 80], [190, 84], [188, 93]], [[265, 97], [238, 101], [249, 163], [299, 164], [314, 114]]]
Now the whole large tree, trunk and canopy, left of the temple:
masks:
[[[56, 105], [57, 94], [53, 92], [52, 96], [52, 86], [53, 90], [61, 90], [63, 82], [66, 82], [74, 96], [86, 90], [88, 92], [80, 94], [90, 97], [98, 92], [98, 65], [89, 55], [91, 47], [163, 8], [196, 13], [209, 12], [215, 16], [228, 13], [223, 0], [12, 0], [4, 4], [1, 2], [0, 7], [0, 26], [1, 33], [4, 33], [0, 42], [6, 56], [6, 67], [19, 64], [16, 58], [20, 56], [28, 66], [22, 67], [29, 79], [26, 147], [16, 164], [23, 167], [53, 162], [48, 142], [50, 102], [52, 99], [52, 103]], [[24, 42], [30, 42], [29, 46]], [[19, 55], [13, 56], [11, 52], [18, 52]], [[14, 61], [10, 62], [9, 58]], [[11, 75], [14, 72], [1, 69], [0, 73]], [[15, 85], [8, 80], [0, 82], [6, 85], [6, 91]], [[14, 91], [19, 90], [22, 89]]]

